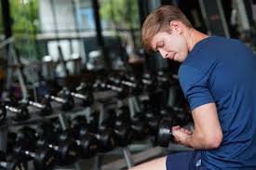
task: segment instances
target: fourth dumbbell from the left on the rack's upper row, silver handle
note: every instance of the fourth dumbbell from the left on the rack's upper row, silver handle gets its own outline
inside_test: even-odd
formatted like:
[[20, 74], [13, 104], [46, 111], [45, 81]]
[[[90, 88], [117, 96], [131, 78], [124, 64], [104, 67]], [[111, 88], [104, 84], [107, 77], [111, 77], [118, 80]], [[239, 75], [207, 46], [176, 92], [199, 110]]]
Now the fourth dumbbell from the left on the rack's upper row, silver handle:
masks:
[[73, 98], [82, 100], [82, 105], [84, 107], [90, 106], [91, 104], [93, 104], [93, 101], [94, 101], [93, 94], [91, 92], [86, 92], [84, 94], [75, 93], [75, 92], [69, 91], [67, 87], [63, 87], [61, 90], [61, 93], [71, 94]]

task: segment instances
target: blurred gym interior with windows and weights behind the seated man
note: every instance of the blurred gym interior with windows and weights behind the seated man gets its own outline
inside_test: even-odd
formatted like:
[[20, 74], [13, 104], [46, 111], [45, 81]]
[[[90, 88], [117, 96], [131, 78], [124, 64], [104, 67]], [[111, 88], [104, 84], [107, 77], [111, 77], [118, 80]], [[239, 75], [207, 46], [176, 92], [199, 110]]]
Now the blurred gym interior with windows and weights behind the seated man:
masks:
[[0, 169], [118, 170], [192, 150], [169, 128], [194, 128], [180, 63], [141, 45], [162, 5], [256, 50], [254, 0], [1, 0]]

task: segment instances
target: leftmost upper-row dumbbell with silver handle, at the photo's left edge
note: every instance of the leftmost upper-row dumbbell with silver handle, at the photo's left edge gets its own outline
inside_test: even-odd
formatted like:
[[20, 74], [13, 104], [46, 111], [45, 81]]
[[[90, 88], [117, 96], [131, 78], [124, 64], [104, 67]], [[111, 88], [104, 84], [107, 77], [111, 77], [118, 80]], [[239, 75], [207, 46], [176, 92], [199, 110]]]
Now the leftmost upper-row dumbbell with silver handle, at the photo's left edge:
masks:
[[9, 105], [8, 103], [1, 103], [0, 106], [0, 122], [6, 119], [7, 111], [15, 114], [12, 119], [17, 122], [24, 121], [30, 118], [28, 108], [25, 105], [19, 105], [17, 107], [14, 107]]

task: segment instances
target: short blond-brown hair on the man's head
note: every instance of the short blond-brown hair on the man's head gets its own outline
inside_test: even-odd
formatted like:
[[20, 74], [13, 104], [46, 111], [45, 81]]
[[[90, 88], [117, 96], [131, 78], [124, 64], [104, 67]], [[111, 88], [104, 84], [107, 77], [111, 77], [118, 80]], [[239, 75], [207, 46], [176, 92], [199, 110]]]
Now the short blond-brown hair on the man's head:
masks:
[[188, 28], [193, 27], [178, 7], [162, 6], [156, 8], [148, 15], [141, 28], [141, 43], [146, 51], [151, 50], [150, 42], [156, 33], [170, 32], [168, 25], [172, 20], [179, 20]]

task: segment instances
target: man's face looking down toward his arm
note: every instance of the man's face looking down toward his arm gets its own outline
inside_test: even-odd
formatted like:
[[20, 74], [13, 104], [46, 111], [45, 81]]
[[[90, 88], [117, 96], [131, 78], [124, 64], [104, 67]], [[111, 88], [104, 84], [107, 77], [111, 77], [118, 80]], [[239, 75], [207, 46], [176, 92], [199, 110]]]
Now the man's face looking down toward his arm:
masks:
[[163, 59], [182, 62], [188, 55], [187, 41], [176, 30], [172, 30], [171, 33], [156, 33], [151, 41], [151, 47], [155, 52], [159, 52]]

